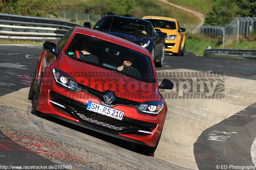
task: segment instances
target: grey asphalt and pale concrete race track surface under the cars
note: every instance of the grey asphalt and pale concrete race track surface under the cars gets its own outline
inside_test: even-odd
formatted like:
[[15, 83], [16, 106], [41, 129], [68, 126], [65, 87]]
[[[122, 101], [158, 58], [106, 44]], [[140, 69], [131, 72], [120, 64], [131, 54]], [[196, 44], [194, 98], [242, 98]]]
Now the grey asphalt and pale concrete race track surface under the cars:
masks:
[[224, 84], [221, 93], [225, 97], [167, 97], [164, 131], [154, 157], [148, 157], [135, 152], [134, 146], [127, 142], [51, 117], [32, 115], [27, 96], [31, 72], [41, 52], [40, 46], [0, 45], [0, 168], [10, 165], [56, 166], [57, 169], [60, 165], [72, 165], [72, 169], [254, 166], [255, 60], [165, 55], [164, 66], [156, 69], [162, 73], [158, 74], [159, 79], [177, 80], [178, 76], [174, 78], [170, 73], [220, 75], [215, 81]]

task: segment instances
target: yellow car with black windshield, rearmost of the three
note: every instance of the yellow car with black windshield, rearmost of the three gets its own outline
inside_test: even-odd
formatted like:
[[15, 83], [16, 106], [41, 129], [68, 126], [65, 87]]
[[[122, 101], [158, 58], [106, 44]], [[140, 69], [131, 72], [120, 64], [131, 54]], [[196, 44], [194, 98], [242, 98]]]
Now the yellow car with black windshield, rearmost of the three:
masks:
[[185, 28], [180, 28], [179, 22], [174, 18], [144, 16], [142, 19], [150, 21], [156, 31], [167, 33], [165, 38], [165, 54], [184, 55], [185, 52]]

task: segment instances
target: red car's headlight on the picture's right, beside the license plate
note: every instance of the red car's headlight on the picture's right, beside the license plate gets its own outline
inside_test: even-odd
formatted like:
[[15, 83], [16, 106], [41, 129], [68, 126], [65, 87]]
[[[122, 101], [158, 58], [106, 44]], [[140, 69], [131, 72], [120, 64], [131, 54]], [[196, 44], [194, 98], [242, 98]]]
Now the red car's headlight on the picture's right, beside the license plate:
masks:
[[138, 109], [141, 112], [158, 114], [164, 108], [164, 102], [161, 101], [146, 101], [138, 105]]

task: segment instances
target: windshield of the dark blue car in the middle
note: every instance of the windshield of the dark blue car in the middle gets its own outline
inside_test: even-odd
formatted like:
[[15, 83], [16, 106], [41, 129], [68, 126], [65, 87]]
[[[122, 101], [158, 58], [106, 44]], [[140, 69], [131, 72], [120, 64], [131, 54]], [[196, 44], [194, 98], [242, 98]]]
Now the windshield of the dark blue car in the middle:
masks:
[[[111, 28], [110, 28], [111, 26]], [[119, 32], [126, 34], [151, 35], [150, 23], [140, 19], [108, 16], [102, 18], [95, 26], [95, 30]]]

